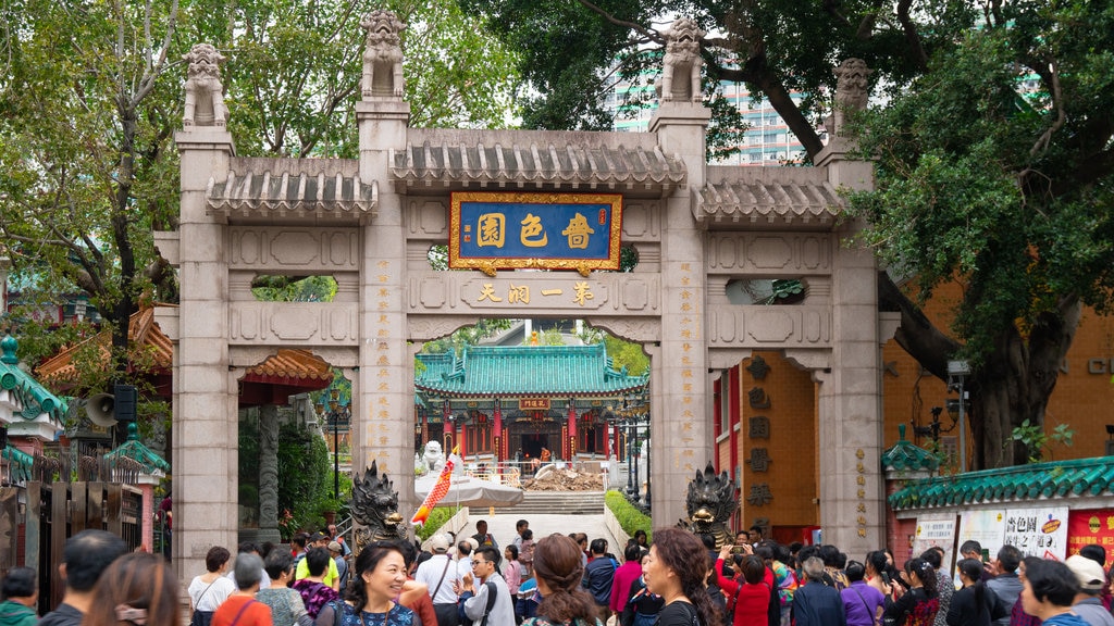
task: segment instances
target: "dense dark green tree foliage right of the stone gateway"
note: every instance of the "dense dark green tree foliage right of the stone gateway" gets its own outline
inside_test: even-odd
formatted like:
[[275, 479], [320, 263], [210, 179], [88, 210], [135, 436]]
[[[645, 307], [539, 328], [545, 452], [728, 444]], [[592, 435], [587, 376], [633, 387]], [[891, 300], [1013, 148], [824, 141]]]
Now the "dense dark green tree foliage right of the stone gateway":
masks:
[[[878, 190], [851, 204], [871, 223], [864, 241], [915, 276], [921, 301], [962, 281], [954, 331], [976, 365], [1004, 329], [1026, 335], [1064, 299], [1114, 303], [1114, 11], [1079, 1], [1003, 11], [864, 116]], [[1037, 88], [1022, 95], [1022, 80]]]

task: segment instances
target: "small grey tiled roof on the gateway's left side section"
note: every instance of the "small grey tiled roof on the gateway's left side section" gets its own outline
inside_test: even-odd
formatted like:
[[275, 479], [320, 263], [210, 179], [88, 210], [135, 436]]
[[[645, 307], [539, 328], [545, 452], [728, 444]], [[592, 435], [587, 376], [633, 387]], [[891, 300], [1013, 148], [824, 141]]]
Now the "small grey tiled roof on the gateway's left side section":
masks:
[[205, 200], [209, 213], [228, 218], [373, 216], [379, 186], [361, 180], [359, 167], [351, 159], [233, 159], [225, 182], [209, 178]]

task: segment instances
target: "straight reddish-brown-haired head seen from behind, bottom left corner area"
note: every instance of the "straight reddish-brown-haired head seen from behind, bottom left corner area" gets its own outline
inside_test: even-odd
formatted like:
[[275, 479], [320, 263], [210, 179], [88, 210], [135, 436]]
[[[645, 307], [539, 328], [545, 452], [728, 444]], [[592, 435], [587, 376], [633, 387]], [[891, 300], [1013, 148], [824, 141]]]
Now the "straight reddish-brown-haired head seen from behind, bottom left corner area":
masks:
[[[226, 552], [227, 554], [227, 552]], [[179, 626], [178, 580], [162, 555], [131, 552], [100, 575], [82, 625]]]

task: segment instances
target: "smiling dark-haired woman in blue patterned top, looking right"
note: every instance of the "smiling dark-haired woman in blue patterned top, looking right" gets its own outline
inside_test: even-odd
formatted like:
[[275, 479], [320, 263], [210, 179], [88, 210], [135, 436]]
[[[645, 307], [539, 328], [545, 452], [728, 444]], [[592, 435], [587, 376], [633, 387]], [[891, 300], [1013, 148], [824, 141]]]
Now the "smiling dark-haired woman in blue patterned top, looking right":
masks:
[[407, 566], [398, 544], [375, 541], [365, 547], [355, 559], [341, 625], [421, 626], [418, 614], [398, 604], [405, 581]]

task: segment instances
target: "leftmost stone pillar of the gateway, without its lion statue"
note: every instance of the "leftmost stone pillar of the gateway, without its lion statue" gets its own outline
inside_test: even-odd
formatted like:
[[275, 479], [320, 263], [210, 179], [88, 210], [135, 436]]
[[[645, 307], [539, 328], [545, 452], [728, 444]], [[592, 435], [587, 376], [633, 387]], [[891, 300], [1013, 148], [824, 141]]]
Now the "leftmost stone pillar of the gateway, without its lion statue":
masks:
[[209, 178], [224, 180], [235, 154], [223, 126], [175, 135], [182, 160], [178, 218], [182, 300], [174, 350], [174, 566], [205, 570], [212, 546], [236, 542], [236, 381], [228, 372], [226, 227], [206, 215]]

